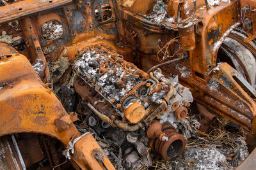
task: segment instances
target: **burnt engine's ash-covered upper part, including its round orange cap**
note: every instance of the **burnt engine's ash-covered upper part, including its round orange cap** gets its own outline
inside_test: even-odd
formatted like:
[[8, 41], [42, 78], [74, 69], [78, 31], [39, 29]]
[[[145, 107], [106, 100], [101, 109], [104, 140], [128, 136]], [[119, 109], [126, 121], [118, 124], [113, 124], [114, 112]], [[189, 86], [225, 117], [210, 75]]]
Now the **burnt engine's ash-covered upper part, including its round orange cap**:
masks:
[[[111, 103], [123, 121], [137, 124], [150, 115], [149, 106], [163, 103], [165, 116], [177, 110], [177, 118], [186, 117], [184, 106], [190, 106], [193, 97], [188, 88], [178, 83], [177, 76], [167, 79], [161, 69], [149, 75], [102, 46], [88, 47], [78, 55], [73, 66], [76, 74]], [[165, 116], [163, 123], [168, 122]]]

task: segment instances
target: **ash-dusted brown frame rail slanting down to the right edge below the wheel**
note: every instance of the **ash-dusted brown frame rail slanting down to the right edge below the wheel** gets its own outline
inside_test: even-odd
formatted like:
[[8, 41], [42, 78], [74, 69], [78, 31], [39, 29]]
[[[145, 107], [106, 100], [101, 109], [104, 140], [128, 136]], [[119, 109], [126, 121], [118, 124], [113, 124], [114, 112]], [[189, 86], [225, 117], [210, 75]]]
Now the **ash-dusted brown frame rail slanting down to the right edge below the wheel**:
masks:
[[[142, 62], [151, 64], [156, 60], [143, 59]], [[200, 83], [191, 76], [186, 62], [163, 66], [163, 73], [177, 74], [182, 85], [186, 85], [191, 90], [195, 101], [235, 124], [241, 125], [245, 131], [253, 134], [256, 104], [253, 98], [242, 89], [241, 84], [234, 80], [233, 75], [239, 75], [239, 73], [227, 63], [223, 63], [207, 76], [209, 79], [207, 83]]]

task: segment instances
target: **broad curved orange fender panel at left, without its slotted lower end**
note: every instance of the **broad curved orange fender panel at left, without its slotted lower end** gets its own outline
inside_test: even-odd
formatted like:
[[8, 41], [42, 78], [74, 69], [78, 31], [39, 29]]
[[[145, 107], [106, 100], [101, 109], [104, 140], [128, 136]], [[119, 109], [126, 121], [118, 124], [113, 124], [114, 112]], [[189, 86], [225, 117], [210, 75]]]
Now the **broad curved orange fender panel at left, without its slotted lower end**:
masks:
[[0, 104], [6, 106], [0, 109], [0, 136], [38, 132], [51, 134], [67, 145], [77, 130], [70, 118], [66, 118], [70, 128], [58, 131], [54, 120], [67, 113], [52, 90], [42, 83], [28, 59], [24, 55], [13, 55], [1, 60], [0, 65], [0, 84], [6, 84], [0, 92]]

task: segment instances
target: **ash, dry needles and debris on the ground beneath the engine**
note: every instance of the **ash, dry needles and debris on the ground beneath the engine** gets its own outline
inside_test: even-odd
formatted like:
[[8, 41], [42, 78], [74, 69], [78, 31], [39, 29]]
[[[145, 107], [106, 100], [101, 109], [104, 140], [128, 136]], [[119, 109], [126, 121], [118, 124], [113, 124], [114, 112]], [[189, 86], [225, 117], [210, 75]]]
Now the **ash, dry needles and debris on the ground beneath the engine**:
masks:
[[[186, 118], [188, 127], [196, 129], [200, 125], [198, 120], [200, 115], [195, 110]], [[187, 134], [186, 138], [189, 139], [186, 148], [177, 159], [166, 162], [150, 155], [153, 160], [151, 166], [145, 164], [145, 157], [136, 152], [138, 146], [136, 148], [136, 145], [127, 141], [129, 133], [122, 129], [109, 127], [108, 131], [101, 134], [99, 129], [93, 127], [78, 129], [95, 134], [95, 139], [116, 169], [235, 169], [249, 154], [243, 134], [238, 132], [234, 124], [221, 117], [204, 135], [195, 131], [191, 131], [190, 136]], [[140, 141], [147, 143], [148, 139]]]

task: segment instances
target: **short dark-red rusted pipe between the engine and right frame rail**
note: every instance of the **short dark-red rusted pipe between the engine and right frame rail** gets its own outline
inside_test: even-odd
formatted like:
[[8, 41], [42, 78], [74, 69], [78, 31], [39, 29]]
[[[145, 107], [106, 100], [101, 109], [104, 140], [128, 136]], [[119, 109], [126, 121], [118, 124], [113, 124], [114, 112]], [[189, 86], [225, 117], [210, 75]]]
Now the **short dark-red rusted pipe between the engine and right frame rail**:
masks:
[[198, 108], [198, 111], [200, 112], [200, 115], [202, 115], [202, 119], [200, 121], [200, 131], [206, 132], [207, 129], [210, 127], [211, 124], [214, 124], [216, 122], [216, 116], [210, 113], [205, 106], [202, 106], [199, 103], [196, 103], [196, 106]]

